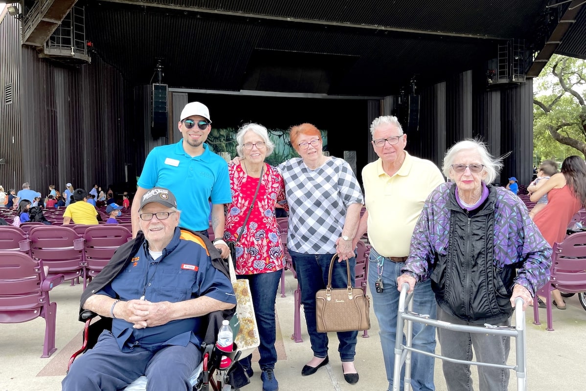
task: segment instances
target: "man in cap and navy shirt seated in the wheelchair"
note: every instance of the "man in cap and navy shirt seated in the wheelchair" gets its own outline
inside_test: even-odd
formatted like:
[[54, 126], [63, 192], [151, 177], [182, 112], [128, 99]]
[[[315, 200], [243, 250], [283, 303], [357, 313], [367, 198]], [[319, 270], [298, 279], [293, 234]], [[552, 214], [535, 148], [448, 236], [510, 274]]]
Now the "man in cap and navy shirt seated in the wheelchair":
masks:
[[179, 229], [179, 214], [166, 188], [141, 198], [141, 232], [81, 296], [80, 314], [113, 318], [112, 330], [73, 362], [64, 391], [118, 390], [142, 375], [147, 390], [192, 389], [204, 315], [234, 308], [236, 297], [220, 254], [207, 238]]

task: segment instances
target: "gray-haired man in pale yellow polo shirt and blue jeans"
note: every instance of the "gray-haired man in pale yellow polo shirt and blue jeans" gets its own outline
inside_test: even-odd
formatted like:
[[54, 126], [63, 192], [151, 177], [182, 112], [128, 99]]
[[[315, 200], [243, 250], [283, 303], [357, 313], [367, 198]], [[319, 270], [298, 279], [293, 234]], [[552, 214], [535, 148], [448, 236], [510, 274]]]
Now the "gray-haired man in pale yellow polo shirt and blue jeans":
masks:
[[[411, 234], [425, 199], [444, 177], [429, 160], [404, 150], [407, 135], [395, 116], [380, 116], [370, 125], [376, 162], [362, 170], [366, 212], [360, 219], [355, 242], [368, 232], [370, 251], [368, 282], [374, 314], [379, 321], [384, 366], [393, 389], [394, 347], [399, 291], [397, 277], [409, 254]], [[415, 286], [413, 310], [435, 318], [437, 304], [428, 280]], [[435, 328], [413, 324], [413, 347], [435, 351]], [[400, 379], [403, 390], [403, 374]], [[411, 358], [411, 387], [414, 391], [435, 390], [434, 358], [414, 353]]]

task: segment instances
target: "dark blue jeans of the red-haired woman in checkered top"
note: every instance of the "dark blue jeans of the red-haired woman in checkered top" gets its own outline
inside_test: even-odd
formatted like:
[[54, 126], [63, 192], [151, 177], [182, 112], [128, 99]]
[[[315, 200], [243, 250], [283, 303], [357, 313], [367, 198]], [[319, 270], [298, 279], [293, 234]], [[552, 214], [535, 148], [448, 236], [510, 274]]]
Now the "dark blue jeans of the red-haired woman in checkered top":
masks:
[[[301, 287], [301, 304], [305, 313], [305, 323], [311, 342], [311, 349], [314, 356], [325, 358], [328, 355], [328, 333], [318, 332], [315, 321], [315, 293], [320, 289], [325, 289], [328, 284], [328, 272], [330, 261], [333, 254], [302, 254], [289, 250], [293, 267], [297, 273], [299, 286]], [[355, 283], [356, 257], [350, 258], [346, 262], [350, 265], [350, 279], [352, 286]], [[332, 287], [345, 288], [348, 284], [346, 273], [346, 262], [334, 262], [332, 270]], [[338, 332], [338, 352], [342, 362], [354, 361], [356, 355], [356, 337], [358, 331]]]

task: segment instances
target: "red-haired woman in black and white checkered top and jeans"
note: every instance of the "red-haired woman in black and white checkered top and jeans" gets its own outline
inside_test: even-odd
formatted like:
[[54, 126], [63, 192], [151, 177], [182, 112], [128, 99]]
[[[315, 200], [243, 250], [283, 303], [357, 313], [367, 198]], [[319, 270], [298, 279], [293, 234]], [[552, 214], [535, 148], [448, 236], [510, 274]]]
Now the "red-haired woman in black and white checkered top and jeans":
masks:
[[[329, 361], [328, 334], [316, 328], [315, 293], [325, 289], [335, 253], [340, 259], [333, 269], [332, 286], [346, 287], [346, 262], [350, 263], [354, 284], [352, 239], [364, 198], [352, 167], [343, 159], [323, 155], [319, 129], [311, 124], [293, 126], [290, 138], [301, 157], [281, 163], [278, 169], [285, 180], [289, 204], [287, 248], [301, 285], [301, 303], [314, 352], [301, 371], [308, 376]], [[354, 366], [357, 335], [357, 331], [338, 332], [338, 350], [348, 383], [358, 381]]]

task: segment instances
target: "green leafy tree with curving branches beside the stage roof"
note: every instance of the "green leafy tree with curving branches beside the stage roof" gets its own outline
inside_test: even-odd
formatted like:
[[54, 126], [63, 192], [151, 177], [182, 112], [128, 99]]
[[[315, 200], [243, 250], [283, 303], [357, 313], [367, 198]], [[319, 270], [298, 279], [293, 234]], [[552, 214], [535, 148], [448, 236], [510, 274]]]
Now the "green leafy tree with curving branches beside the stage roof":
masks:
[[[533, 145], [539, 160], [586, 156], [586, 61], [555, 54], [533, 84]], [[538, 162], [539, 163], [539, 162]]]

